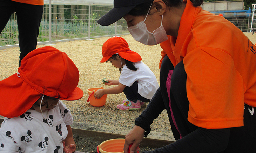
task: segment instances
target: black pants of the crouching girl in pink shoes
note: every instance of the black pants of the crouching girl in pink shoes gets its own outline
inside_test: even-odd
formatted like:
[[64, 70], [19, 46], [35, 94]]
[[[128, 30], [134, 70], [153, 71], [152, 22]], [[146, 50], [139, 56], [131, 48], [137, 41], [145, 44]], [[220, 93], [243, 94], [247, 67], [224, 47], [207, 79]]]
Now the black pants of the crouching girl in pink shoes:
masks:
[[130, 87], [126, 86], [123, 90], [123, 93], [125, 94], [127, 99], [135, 103], [137, 100], [141, 100], [142, 102], [146, 103], [150, 101], [150, 99], [146, 99], [138, 93], [138, 81], [135, 81]]

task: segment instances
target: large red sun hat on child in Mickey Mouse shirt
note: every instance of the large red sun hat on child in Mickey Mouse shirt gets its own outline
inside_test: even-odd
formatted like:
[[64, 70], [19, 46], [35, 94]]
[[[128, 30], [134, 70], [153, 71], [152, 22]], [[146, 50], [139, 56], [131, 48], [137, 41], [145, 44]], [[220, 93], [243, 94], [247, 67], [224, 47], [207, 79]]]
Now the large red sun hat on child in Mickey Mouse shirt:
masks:
[[0, 81], [0, 115], [17, 117], [44, 94], [61, 100], [78, 100], [79, 71], [66, 53], [50, 46], [35, 49], [22, 60], [18, 73]]

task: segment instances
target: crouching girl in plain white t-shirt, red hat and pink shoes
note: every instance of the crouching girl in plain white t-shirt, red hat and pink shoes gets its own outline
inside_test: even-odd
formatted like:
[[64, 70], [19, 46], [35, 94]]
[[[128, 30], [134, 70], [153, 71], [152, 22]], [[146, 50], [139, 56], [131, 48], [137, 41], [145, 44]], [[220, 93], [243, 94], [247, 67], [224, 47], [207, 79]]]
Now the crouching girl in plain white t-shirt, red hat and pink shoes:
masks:
[[104, 94], [124, 92], [126, 100], [117, 105], [119, 110], [138, 110], [149, 102], [159, 87], [154, 73], [142, 63], [141, 56], [131, 51], [122, 37], [109, 38], [102, 46], [103, 58], [100, 62], [109, 61], [121, 70], [119, 80], [106, 80], [105, 85], [118, 85], [100, 89], [94, 93], [95, 98]]

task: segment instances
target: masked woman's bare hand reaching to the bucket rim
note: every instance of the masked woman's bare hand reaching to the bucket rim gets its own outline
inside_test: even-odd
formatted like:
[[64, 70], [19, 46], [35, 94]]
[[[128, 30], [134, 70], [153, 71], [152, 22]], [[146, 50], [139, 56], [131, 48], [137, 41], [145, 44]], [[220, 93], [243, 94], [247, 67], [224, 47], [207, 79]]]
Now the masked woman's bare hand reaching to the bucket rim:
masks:
[[129, 145], [132, 143], [133, 144], [130, 148], [130, 153], [139, 151], [140, 148], [138, 148], [138, 146], [140, 145], [140, 142], [144, 137], [144, 133], [144, 129], [142, 129], [140, 126], [135, 125], [133, 129], [125, 136], [125, 143], [123, 147], [124, 153], [128, 153]]

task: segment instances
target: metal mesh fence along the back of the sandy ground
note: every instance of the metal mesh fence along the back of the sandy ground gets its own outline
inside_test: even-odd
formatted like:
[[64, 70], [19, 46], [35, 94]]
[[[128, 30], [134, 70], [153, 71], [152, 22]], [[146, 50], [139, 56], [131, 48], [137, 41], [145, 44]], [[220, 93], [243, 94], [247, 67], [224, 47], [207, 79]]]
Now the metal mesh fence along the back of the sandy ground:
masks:
[[[85, 0], [45, 0], [44, 2], [38, 44], [129, 34], [123, 18], [110, 26], [100, 26], [96, 23], [102, 15], [113, 8], [111, 4]], [[241, 31], [251, 32], [252, 13], [223, 13], [223, 17]], [[256, 25], [252, 28], [256, 28]], [[18, 26], [14, 13], [0, 34], [0, 49], [18, 44]]]

